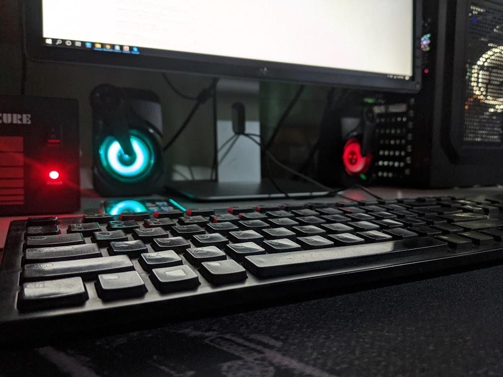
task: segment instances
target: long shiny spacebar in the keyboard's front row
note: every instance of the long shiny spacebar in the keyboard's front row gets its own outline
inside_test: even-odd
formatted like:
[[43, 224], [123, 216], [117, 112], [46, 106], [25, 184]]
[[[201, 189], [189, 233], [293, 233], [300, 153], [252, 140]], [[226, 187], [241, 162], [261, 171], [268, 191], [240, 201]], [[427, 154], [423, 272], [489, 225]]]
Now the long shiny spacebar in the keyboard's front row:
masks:
[[443, 241], [418, 237], [317, 250], [250, 255], [244, 258], [243, 266], [256, 276], [279, 276], [447, 250], [448, 246]]

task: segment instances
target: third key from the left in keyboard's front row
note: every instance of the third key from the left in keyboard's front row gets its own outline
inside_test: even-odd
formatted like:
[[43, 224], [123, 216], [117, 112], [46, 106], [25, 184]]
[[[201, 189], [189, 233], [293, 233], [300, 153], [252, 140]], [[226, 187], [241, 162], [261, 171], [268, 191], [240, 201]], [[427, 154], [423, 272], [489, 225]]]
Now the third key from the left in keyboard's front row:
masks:
[[154, 287], [163, 293], [191, 290], [201, 284], [196, 273], [185, 264], [154, 268], [150, 280]]

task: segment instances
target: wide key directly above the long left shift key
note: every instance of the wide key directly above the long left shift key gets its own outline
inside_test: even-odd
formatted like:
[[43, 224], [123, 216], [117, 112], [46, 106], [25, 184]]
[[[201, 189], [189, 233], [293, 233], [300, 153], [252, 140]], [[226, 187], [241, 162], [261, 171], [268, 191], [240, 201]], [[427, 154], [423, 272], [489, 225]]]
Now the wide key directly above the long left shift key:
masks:
[[97, 258], [102, 256], [98, 245], [87, 243], [70, 246], [34, 247], [25, 251], [25, 263], [55, 262], [58, 260]]

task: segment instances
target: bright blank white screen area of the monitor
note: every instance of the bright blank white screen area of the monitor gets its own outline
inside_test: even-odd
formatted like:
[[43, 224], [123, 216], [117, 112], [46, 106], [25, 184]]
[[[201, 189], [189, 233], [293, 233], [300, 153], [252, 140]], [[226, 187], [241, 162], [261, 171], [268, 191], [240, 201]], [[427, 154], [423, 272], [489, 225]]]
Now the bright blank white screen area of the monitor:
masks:
[[412, 75], [412, 0], [43, 0], [43, 36]]

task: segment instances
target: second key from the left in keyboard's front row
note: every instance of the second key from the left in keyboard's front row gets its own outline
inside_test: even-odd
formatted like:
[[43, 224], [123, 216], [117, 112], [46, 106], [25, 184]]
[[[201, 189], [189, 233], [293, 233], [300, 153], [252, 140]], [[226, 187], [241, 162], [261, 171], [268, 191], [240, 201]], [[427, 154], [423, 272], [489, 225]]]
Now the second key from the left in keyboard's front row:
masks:
[[136, 271], [104, 273], [95, 282], [98, 297], [103, 301], [129, 299], [144, 296], [145, 283]]

